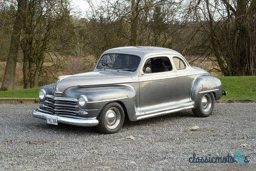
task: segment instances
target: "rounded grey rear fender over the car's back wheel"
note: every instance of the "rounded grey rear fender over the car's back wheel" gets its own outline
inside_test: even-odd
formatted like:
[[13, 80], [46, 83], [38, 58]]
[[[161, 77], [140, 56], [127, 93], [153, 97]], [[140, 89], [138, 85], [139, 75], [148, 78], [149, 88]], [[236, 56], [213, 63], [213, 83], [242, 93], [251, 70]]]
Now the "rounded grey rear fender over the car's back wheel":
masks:
[[192, 100], [195, 102], [195, 107], [198, 104], [198, 96], [203, 93], [212, 92], [215, 96], [215, 100], [221, 98], [222, 85], [218, 78], [211, 75], [198, 76], [192, 87]]

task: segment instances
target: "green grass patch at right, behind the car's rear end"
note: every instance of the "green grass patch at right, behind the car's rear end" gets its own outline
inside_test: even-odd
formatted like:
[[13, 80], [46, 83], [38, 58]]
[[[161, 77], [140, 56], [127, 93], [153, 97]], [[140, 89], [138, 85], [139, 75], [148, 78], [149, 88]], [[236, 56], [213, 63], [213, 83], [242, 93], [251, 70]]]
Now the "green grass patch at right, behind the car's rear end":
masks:
[[256, 76], [218, 77], [227, 96], [223, 99], [256, 99]]

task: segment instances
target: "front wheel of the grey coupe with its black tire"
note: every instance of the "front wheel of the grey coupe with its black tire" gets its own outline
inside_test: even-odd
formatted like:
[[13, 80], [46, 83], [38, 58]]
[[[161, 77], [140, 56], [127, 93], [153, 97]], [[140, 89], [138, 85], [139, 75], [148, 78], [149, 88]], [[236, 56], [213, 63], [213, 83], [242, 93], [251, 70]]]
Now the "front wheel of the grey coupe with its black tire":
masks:
[[125, 121], [125, 112], [123, 107], [118, 102], [107, 104], [98, 116], [99, 124], [97, 129], [101, 133], [118, 132]]

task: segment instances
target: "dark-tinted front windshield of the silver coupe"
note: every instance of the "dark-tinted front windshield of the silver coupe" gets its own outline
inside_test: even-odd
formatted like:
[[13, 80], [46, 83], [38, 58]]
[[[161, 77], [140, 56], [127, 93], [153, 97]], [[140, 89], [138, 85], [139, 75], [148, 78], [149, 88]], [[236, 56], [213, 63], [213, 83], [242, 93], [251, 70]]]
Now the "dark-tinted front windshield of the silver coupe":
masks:
[[97, 69], [124, 70], [134, 72], [140, 64], [141, 58], [134, 55], [106, 54], [100, 58]]

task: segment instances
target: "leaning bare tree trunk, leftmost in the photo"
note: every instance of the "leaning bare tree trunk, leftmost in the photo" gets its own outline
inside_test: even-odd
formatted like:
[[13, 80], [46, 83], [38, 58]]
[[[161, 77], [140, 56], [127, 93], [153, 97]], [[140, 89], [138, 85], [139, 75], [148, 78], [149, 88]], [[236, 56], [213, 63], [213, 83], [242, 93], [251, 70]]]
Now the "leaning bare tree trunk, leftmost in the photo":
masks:
[[20, 41], [20, 32], [21, 25], [23, 21], [23, 10], [25, 7], [26, 0], [18, 1], [18, 10], [16, 13], [16, 18], [13, 23], [13, 31], [11, 35], [11, 43], [9, 48], [9, 55], [7, 58], [7, 63], [5, 67], [5, 75], [2, 84], [2, 90], [13, 89], [14, 87], [14, 78], [16, 71], [16, 62], [19, 52], [19, 41]]

